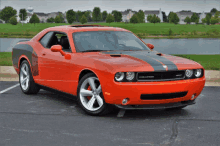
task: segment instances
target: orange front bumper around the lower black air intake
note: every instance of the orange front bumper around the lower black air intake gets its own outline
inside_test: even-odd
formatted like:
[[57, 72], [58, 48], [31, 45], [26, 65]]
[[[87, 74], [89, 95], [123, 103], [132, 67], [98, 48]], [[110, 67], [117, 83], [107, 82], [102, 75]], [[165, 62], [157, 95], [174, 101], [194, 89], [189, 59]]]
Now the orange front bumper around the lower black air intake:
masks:
[[[122, 100], [128, 98], [126, 105], [159, 105], [195, 100], [205, 86], [205, 77], [165, 82], [108, 82], [102, 86], [105, 102], [122, 105]], [[169, 99], [141, 99], [142, 94], [169, 94], [187, 91], [183, 97]], [[192, 95], [195, 97], [191, 99]], [[123, 105], [124, 106], [124, 105]]]

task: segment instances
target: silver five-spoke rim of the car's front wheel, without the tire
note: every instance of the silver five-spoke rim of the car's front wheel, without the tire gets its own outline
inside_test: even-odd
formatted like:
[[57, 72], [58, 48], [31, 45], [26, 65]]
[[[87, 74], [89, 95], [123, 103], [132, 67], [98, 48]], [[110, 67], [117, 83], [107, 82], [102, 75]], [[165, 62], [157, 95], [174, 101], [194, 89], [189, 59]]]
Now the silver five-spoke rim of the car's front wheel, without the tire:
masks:
[[99, 110], [104, 101], [101, 97], [101, 85], [97, 77], [87, 78], [80, 87], [80, 100], [89, 111]]

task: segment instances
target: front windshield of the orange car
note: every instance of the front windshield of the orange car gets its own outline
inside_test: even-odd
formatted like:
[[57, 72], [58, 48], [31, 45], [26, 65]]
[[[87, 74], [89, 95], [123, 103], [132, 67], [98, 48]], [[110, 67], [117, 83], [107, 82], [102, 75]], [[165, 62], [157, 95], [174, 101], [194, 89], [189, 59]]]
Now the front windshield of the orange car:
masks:
[[76, 32], [73, 40], [77, 52], [150, 50], [134, 34], [124, 31]]

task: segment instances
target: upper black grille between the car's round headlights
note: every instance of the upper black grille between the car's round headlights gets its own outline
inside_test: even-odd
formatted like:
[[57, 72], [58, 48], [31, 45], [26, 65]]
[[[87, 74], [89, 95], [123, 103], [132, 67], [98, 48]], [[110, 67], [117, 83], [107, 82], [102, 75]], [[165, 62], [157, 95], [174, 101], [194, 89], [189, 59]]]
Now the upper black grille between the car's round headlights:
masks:
[[166, 71], [166, 72], [139, 72], [137, 81], [169, 81], [181, 80], [185, 77], [185, 71]]

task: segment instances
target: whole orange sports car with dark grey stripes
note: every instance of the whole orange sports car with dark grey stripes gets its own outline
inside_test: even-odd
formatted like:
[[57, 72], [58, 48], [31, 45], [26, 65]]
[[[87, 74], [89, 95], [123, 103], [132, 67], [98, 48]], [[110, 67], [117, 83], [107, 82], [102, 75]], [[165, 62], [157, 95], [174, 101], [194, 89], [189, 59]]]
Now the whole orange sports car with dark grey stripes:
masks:
[[90, 115], [114, 107], [181, 109], [194, 104], [205, 85], [204, 68], [153, 48], [126, 29], [67, 25], [19, 42], [12, 59], [25, 94], [64, 92]]

